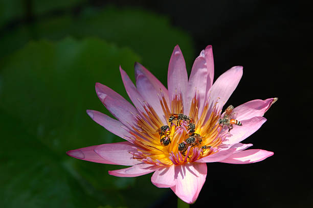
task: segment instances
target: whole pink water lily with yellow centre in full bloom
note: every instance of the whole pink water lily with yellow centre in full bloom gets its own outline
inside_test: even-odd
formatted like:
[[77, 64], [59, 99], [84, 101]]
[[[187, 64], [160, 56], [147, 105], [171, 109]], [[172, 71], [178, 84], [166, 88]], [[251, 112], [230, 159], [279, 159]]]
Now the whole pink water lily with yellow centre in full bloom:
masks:
[[[154, 172], [151, 182], [155, 186], [171, 188], [183, 201], [193, 203], [206, 180], [206, 163], [249, 164], [274, 154], [261, 149], [245, 150], [252, 144], [240, 142], [262, 126], [266, 121], [263, 114], [276, 98], [235, 107], [232, 117], [242, 126], [234, 125], [229, 131], [228, 126], [219, 125], [223, 105], [241, 79], [242, 66], [232, 67], [213, 84], [211, 45], [195, 59], [189, 79], [183, 54], [176, 45], [169, 62], [168, 89], [139, 63], [135, 64], [136, 86], [121, 67], [120, 72], [133, 105], [109, 87], [96, 83], [99, 99], [117, 120], [95, 110], [87, 113], [126, 142], [71, 150], [68, 155], [96, 163], [131, 166], [109, 171], [119, 177]], [[179, 113], [188, 119], [169, 122], [171, 115]], [[195, 125], [194, 132], [191, 123]], [[162, 126], [168, 128], [160, 133]], [[187, 144], [190, 135], [197, 141]], [[178, 148], [181, 143], [185, 144], [184, 150]]]

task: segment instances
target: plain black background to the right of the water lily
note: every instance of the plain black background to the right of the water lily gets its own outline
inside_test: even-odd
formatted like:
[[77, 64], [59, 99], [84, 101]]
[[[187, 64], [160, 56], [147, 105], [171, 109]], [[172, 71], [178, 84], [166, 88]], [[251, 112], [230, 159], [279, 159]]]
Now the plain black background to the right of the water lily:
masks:
[[191, 207], [312, 206], [310, 127], [301, 122], [312, 113], [312, 5], [206, 1], [145, 7], [169, 15], [175, 26], [187, 30], [196, 52], [212, 44], [215, 77], [243, 65], [229, 104], [279, 98], [264, 115], [268, 121], [244, 141], [274, 156], [262, 164], [208, 164], [206, 183]]

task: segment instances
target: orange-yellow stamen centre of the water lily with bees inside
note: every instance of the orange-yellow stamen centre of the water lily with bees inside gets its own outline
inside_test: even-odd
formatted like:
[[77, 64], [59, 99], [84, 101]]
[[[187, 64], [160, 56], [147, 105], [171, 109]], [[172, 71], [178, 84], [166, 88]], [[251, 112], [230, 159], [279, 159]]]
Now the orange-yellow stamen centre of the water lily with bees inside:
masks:
[[[199, 99], [195, 94], [189, 114], [185, 115], [181, 94], [173, 96], [170, 105], [162, 90], [158, 97], [162, 115], [158, 115], [144, 101], [144, 111], [133, 115], [137, 123], [129, 132], [132, 135], [130, 139], [137, 145], [130, 152], [133, 159], [151, 165], [169, 166], [191, 163], [217, 151], [223, 141], [218, 125], [220, 111], [216, 110], [217, 102], [213, 106], [205, 103], [199, 114]], [[161, 116], [167, 123], [162, 122]]]

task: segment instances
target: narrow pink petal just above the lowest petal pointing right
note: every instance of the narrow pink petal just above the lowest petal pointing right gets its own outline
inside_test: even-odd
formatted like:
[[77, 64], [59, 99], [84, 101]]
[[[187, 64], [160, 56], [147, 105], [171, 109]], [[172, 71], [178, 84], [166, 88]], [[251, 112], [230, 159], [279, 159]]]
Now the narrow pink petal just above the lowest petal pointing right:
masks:
[[234, 145], [226, 146], [225, 148], [219, 149], [218, 152], [210, 154], [206, 157], [196, 160], [198, 163], [214, 163], [228, 158], [236, 150], [248, 148], [249, 145], [237, 143]]

